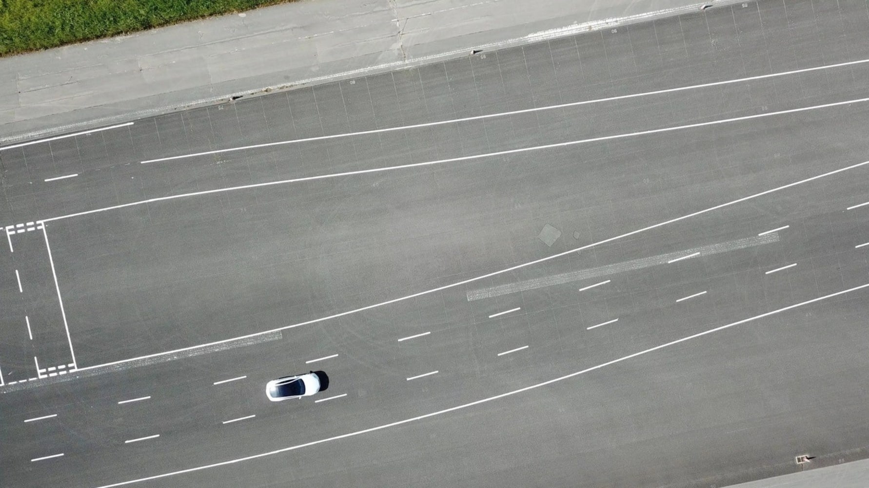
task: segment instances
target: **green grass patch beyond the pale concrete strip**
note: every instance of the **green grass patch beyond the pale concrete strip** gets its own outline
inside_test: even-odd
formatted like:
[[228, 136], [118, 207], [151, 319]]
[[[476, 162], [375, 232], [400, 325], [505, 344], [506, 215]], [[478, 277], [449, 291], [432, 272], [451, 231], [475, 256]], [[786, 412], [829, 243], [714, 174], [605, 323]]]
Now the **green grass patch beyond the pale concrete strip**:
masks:
[[0, 56], [292, 0], [0, 0]]

